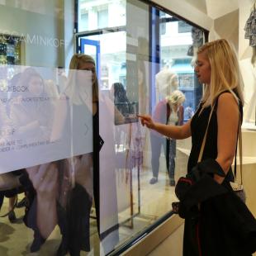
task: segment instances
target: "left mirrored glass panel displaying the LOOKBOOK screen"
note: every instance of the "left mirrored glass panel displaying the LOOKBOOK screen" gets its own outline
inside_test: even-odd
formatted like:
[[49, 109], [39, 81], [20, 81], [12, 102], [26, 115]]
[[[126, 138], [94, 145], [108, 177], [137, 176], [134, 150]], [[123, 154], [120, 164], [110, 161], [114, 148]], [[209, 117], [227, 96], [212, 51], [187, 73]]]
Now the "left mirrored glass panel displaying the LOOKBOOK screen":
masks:
[[73, 5], [1, 3], [0, 254], [80, 255], [97, 234], [95, 68], [77, 55], [68, 69]]

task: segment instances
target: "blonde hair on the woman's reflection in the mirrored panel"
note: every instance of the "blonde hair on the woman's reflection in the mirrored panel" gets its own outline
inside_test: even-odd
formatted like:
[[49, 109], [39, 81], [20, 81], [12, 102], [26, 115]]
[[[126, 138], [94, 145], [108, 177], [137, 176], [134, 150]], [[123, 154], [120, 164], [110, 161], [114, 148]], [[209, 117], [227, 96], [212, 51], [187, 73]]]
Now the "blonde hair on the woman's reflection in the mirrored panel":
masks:
[[[90, 55], [83, 55], [83, 54], [74, 54], [69, 63], [69, 70], [71, 69], [80, 69], [81, 65], [84, 63], [92, 63], [95, 66], [95, 61]], [[73, 83], [73, 72], [68, 78], [69, 81]], [[96, 76], [96, 75], [95, 75]], [[98, 101], [98, 82], [97, 76], [95, 78], [95, 82], [92, 84], [92, 102]]]

